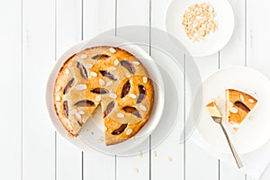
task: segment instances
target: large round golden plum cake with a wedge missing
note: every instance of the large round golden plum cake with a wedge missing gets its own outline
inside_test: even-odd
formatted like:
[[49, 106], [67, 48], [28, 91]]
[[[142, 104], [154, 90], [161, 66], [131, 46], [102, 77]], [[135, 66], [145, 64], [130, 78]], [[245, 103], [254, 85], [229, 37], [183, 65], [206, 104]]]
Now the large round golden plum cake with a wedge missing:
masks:
[[134, 136], [148, 121], [154, 88], [138, 58], [116, 47], [82, 50], [58, 72], [54, 105], [59, 121], [77, 136], [101, 104], [106, 145]]

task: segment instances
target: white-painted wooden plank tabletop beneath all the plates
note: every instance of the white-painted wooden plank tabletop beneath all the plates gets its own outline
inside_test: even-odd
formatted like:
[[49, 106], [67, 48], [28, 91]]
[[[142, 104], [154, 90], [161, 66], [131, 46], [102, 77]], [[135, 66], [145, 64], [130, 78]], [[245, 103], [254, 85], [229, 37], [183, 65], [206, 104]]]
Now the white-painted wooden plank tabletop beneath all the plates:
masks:
[[[117, 34], [117, 27], [124, 25], [139, 24], [164, 30], [166, 7], [170, 2], [1, 0], [1, 179], [252, 179], [211, 157], [191, 140], [179, 144], [177, 126], [161, 145], [151, 149], [157, 152], [157, 157], [150, 153], [142, 157], [108, 157], [72, 147], [49, 122], [45, 107], [46, 81], [55, 60], [66, 49], [101, 31], [115, 28]], [[253, 67], [270, 77], [269, 1], [229, 2], [236, 18], [233, 37], [219, 53], [195, 58], [202, 79], [229, 66]], [[263, 176], [264, 180], [269, 178], [270, 167]]]

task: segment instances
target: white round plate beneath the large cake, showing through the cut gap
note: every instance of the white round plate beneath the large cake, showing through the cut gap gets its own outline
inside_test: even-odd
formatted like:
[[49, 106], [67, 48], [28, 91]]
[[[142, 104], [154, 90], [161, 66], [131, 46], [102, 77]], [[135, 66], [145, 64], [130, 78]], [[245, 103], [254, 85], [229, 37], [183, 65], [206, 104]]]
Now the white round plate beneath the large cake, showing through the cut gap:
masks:
[[[121, 46], [119, 46], [120, 44]], [[67, 130], [65, 130], [60, 121], [58, 121], [58, 116], [54, 110], [53, 105], [53, 88], [55, 79], [58, 76], [59, 68], [63, 65], [66, 59], [82, 49], [101, 45], [118, 46], [121, 49], [128, 50], [136, 58], [139, 58], [142, 64], [148, 69], [148, 74], [152, 78], [155, 91], [155, 99], [154, 99], [155, 103], [150, 118], [148, 119], [148, 122], [144, 125], [144, 127], [141, 130], [139, 130], [139, 132], [135, 135], [134, 138], [112, 146], [105, 146], [104, 144], [103, 118], [102, 112], [99, 108], [95, 110], [94, 116], [89, 118], [89, 120], [85, 123], [83, 129], [80, 131], [79, 136], [77, 138], [67, 138]], [[89, 148], [90, 149], [94, 148], [95, 150], [98, 150], [106, 154], [121, 155], [123, 152], [128, 150], [130, 151], [132, 148], [136, 148], [137, 146], [139, 146], [139, 144], [145, 141], [145, 139], [148, 138], [149, 134], [157, 127], [157, 124], [163, 113], [164, 85], [162, 76], [160, 75], [159, 69], [155, 61], [152, 58], [150, 58], [143, 49], [140, 49], [136, 45], [129, 45], [126, 42], [126, 40], [121, 40], [120, 38], [116, 38], [114, 36], [99, 36], [93, 40], [82, 41], [76, 44], [71, 49], [68, 49], [63, 54], [63, 56], [58, 59], [55, 67], [53, 68], [49, 76], [46, 100], [50, 120], [55, 129], [62, 137], [67, 139], [77, 148], [81, 148], [83, 150], [89, 150]], [[138, 151], [136, 151], [136, 153], [137, 152]]]

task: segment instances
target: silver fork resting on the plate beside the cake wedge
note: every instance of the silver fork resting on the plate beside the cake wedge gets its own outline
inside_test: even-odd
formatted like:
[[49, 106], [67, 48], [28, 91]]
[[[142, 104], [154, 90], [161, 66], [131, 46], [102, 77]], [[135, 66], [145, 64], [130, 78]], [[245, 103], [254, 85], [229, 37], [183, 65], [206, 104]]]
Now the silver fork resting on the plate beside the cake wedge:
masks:
[[[216, 104], [215, 104], [215, 105], [216, 105]], [[217, 110], [218, 110], [218, 108], [217, 108]], [[220, 110], [218, 110], [218, 111], [219, 111], [219, 113], [215, 113], [215, 116], [212, 116], [212, 115], [210, 114], [210, 115], [211, 115], [211, 118], [213, 119], [213, 121], [215, 121], [215, 122], [217, 122], [217, 123], [220, 124], [220, 127], [221, 127], [221, 129], [223, 130], [223, 132], [224, 132], [224, 134], [225, 134], [225, 137], [226, 137], [226, 139], [227, 139], [227, 141], [228, 141], [228, 143], [229, 143], [229, 148], [230, 148], [230, 150], [231, 150], [231, 152], [232, 152], [232, 155], [233, 155], [233, 157], [234, 157], [234, 159], [235, 159], [235, 161], [236, 161], [236, 163], [237, 163], [237, 165], [238, 165], [238, 168], [242, 168], [242, 167], [243, 167], [242, 160], [241, 160], [241, 158], [239, 157], [237, 150], [234, 148], [232, 142], [231, 142], [230, 139], [229, 139], [228, 133], [227, 133], [227, 131], [225, 130], [223, 124], [222, 124], [222, 116], [221, 116], [221, 114], [220, 114]], [[219, 115], [218, 115], [218, 114], [219, 114]]]

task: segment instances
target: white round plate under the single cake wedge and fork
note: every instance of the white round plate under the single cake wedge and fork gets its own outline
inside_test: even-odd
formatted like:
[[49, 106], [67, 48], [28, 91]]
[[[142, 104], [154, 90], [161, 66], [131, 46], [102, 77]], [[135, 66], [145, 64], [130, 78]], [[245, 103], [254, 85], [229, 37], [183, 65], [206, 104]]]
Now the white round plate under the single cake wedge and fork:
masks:
[[[220, 125], [211, 120], [204, 105], [216, 100], [222, 114], [225, 111], [225, 90], [237, 89], [257, 98], [258, 103], [239, 125], [223, 117], [223, 125], [239, 153], [248, 153], [263, 146], [270, 138], [269, 102], [270, 81], [249, 67], [228, 67], [215, 72], [202, 84], [202, 112], [196, 126], [202, 138], [212, 148], [230, 153], [229, 145]], [[194, 103], [199, 103], [195, 102]], [[238, 130], [234, 130], [238, 128]]]

